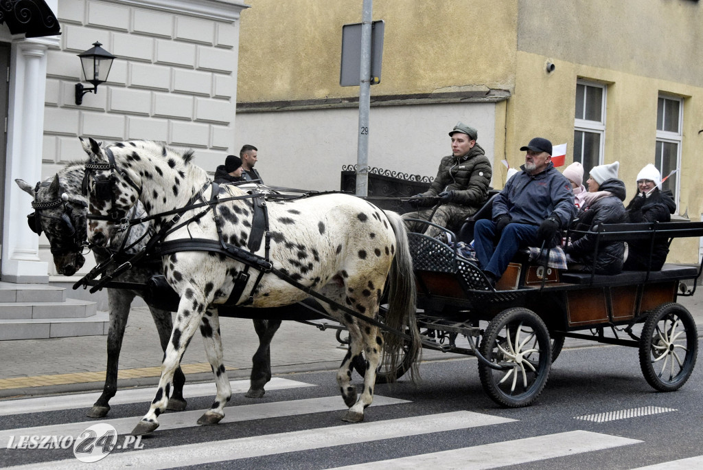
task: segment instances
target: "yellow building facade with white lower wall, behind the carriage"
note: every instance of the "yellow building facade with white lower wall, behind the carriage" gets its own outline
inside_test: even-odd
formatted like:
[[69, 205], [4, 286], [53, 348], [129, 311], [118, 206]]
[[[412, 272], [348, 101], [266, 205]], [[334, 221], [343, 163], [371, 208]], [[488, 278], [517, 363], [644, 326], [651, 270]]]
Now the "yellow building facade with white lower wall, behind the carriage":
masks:
[[[361, 1], [251, 0], [242, 14], [236, 146], [259, 148], [269, 184], [339, 189], [356, 163], [359, 87], [340, 87], [342, 26]], [[370, 167], [434, 176], [463, 121], [494, 163], [493, 186], [533, 136], [567, 164], [621, 163], [628, 199], [654, 163], [678, 215], [700, 220], [703, 5], [695, 0], [375, 0], [385, 21], [371, 87]], [[586, 176], [587, 178], [587, 176]], [[670, 261], [697, 262], [676, 240]]]

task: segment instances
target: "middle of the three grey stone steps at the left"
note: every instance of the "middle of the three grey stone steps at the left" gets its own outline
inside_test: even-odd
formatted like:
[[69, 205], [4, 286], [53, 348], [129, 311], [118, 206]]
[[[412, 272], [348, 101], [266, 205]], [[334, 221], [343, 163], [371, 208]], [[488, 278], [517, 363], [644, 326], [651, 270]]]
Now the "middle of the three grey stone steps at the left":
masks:
[[1, 302], [0, 320], [87, 318], [96, 311], [95, 302], [72, 298], [63, 302]]

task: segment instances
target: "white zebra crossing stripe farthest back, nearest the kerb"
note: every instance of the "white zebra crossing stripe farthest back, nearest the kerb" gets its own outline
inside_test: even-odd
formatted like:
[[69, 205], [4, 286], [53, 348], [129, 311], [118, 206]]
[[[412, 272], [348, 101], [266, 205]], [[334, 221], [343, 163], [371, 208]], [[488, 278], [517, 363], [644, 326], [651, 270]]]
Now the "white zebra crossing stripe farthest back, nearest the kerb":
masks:
[[[232, 393], [245, 393], [249, 390], [248, 380], [236, 380], [230, 382]], [[283, 390], [285, 388], [298, 387], [314, 387], [311, 383], [298, 382], [280, 377], [273, 377], [269, 383], [266, 383], [266, 390]], [[194, 383], [186, 384], [183, 387], [183, 396], [185, 398], [204, 397], [207, 395], [214, 396], [217, 393], [215, 384]], [[110, 405], [124, 405], [134, 402], [151, 402], [156, 394], [156, 387], [136, 388], [133, 390], [118, 390], [117, 395], [110, 400]], [[70, 395], [71, 400], [61, 400], [60, 397], [42, 397], [42, 398], [22, 398], [21, 400], [0, 401], [0, 416], [9, 414], [23, 413], [41, 413], [48, 411], [56, 411], [58, 409], [75, 409], [75, 408], [90, 408], [93, 403], [98, 400], [101, 393], [78, 393]]]

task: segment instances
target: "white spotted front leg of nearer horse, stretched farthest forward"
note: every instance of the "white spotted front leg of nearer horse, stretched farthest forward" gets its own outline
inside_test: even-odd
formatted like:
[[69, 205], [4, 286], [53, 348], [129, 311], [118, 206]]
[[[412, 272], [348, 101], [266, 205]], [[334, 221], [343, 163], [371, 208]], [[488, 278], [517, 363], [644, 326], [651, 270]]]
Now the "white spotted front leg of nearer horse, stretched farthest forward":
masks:
[[176, 368], [181, 363], [181, 357], [188, 348], [195, 331], [198, 329], [203, 310], [209, 302], [205, 300], [202, 293], [196, 293], [193, 288], [185, 289], [181, 303], [179, 304], [178, 315], [171, 334], [171, 339], [164, 353], [164, 360], [161, 363], [161, 378], [156, 390], [156, 396], [151, 402], [147, 414], [138, 422], [131, 431], [132, 436], [142, 436], [152, 433], [159, 427], [158, 417], [165, 411], [169, 396], [173, 388], [173, 376]]

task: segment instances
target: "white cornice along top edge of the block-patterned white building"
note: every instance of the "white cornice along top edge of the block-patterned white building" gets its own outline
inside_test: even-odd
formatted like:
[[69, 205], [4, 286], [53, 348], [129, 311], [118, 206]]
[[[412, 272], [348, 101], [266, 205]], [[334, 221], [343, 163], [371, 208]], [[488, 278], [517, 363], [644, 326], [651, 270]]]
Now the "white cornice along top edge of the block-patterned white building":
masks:
[[112, 0], [113, 4], [143, 6], [160, 11], [197, 16], [209, 20], [233, 23], [249, 5], [235, 0]]

